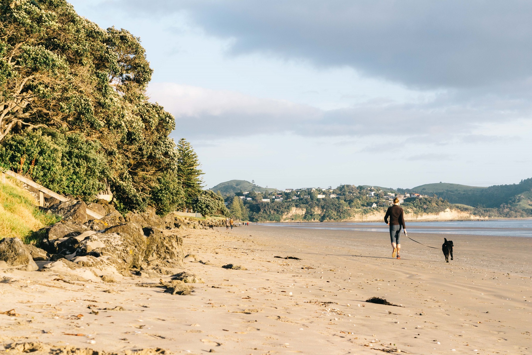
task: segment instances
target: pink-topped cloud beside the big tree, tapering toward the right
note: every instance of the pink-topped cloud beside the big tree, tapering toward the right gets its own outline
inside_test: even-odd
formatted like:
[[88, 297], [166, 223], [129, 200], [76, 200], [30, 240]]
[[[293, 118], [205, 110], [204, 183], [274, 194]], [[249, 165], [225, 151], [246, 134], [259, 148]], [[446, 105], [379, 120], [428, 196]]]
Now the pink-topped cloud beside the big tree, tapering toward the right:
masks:
[[180, 133], [196, 136], [278, 134], [323, 115], [319, 109], [286, 100], [173, 83], [152, 83], [148, 94], [174, 115]]

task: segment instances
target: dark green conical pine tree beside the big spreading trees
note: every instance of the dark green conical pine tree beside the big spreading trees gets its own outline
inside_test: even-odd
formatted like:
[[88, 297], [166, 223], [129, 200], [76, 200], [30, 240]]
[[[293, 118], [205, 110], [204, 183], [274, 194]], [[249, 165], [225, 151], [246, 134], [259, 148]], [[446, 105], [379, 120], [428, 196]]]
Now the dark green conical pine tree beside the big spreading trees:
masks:
[[194, 199], [202, 192], [201, 176], [204, 172], [198, 169], [200, 167], [198, 155], [185, 138], [179, 139], [177, 152], [177, 176], [185, 193], [185, 207], [191, 208]]

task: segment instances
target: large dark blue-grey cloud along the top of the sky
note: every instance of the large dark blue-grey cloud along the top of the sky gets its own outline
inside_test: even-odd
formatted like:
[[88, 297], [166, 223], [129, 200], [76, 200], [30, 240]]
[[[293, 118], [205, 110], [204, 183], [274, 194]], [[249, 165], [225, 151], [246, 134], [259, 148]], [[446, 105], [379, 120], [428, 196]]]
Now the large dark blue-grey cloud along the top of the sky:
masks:
[[[425, 0], [121, 0], [130, 13], [188, 13], [231, 53], [347, 65], [419, 88], [471, 88], [532, 76], [532, 3]], [[124, 6], [127, 5], [127, 6]]]

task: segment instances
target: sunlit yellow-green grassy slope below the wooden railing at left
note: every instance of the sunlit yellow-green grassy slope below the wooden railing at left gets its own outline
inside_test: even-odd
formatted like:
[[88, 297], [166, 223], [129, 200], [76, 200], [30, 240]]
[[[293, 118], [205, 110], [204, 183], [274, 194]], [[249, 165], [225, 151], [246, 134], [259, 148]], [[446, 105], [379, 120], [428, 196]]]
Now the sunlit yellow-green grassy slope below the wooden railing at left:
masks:
[[32, 243], [32, 232], [57, 220], [41, 212], [35, 197], [18, 181], [6, 178], [5, 184], [0, 183], [0, 239], [18, 237], [24, 243]]

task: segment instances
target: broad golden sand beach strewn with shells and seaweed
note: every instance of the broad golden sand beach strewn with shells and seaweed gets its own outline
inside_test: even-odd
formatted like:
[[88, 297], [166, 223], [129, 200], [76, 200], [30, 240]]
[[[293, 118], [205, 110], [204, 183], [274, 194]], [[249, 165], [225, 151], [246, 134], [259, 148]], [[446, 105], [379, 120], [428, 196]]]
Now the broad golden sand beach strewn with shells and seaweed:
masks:
[[[532, 238], [447, 235], [455, 247], [445, 263], [440, 249], [404, 237], [402, 260], [391, 259], [386, 233], [256, 225], [183, 233], [185, 250], [212, 264], [185, 262], [205, 280], [188, 296], [136, 286], [158, 278], [76, 285], [0, 270], [0, 312], [17, 313], [0, 315], [0, 344], [119, 353], [532, 353]], [[440, 247], [443, 236], [415, 239]], [[248, 270], [223, 269], [227, 263]], [[371, 296], [403, 307], [365, 302]], [[104, 310], [115, 306], [124, 310]]]

